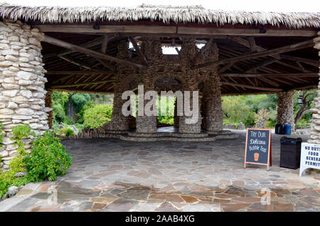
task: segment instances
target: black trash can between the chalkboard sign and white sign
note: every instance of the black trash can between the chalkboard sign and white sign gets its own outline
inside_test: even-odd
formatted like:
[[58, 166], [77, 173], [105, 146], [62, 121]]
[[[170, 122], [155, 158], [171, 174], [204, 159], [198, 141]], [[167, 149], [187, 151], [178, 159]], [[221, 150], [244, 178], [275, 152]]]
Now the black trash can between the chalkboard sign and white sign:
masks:
[[280, 142], [280, 167], [293, 169], [299, 168], [302, 139], [282, 136]]

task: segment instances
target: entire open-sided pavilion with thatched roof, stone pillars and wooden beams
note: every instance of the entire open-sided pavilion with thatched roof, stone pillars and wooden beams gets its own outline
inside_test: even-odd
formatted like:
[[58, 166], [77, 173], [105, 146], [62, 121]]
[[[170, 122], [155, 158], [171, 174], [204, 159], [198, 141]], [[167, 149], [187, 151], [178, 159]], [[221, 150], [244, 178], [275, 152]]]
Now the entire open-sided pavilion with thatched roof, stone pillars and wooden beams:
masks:
[[[214, 141], [236, 136], [223, 130], [222, 95], [277, 93], [277, 123], [294, 127], [293, 91], [319, 84], [320, 13], [1, 4], [0, 18], [4, 167], [16, 154], [11, 129], [29, 124], [41, 133], [52, 126], [54, 90], [114, 94], [112, 120], [78, 138]], [[176, 54], [163, 53], [168, 46]], [[125, 117], [122, 93], [138, 85], [159, 94], [198, 91], [198, 122], [175, 114], [175, 132], [160, 133], [154, 116]], [[316, 144], [319, 97], [311, 109]]]

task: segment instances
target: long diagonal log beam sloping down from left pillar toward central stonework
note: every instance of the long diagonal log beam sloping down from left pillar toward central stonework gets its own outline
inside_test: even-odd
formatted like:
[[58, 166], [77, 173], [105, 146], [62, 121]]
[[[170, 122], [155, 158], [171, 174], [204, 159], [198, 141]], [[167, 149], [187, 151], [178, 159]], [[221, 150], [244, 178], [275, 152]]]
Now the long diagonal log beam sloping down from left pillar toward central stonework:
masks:
[[99, 52], [96, 52], [94, 50], [90, 50], [88, 48], [83, 48], [83, 47], [81, 47], [79, 45], [74, 45], [72, 43], [67, 43], [65, 41], [61, 41], [59, 39], [52, 38], [50, 36], [45, 36], [43, 38], [43, 41], [46, 42], [46, 43], [53, 44], [53, 45], [58, 45], [58, 46], [63, 47], [63, 48], [67, 48], [69, 50], [74, 50], [74, 51], [77, 51], [77, 52], [80, 52], [80, 53], [85, 53], [87, 55], [91, 55], [92, 57], [101, 58], [103, 60], [110, 60], [110, 61], [114, 61], [116, 63], [129, 65], [129, 66], [134, 66], [134, 67], [137, 67], [137, 68], [143, 68], [144, 67], [144, 65], [140, 65], [139, 63], [133, 63], [133, 62], [130, 62], [130, 61], [127, 61], [127, 60], [114, 58], [111, 55], [106, 55], [106, 54], [103, 54], [103, 53], [99, 53]]

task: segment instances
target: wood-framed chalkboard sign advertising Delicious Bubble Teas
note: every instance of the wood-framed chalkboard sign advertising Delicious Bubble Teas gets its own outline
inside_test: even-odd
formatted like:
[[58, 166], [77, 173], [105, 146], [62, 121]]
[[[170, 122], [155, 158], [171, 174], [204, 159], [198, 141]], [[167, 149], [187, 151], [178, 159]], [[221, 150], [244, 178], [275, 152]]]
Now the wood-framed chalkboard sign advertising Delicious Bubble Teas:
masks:
[[270, 129], [247, 129], [245, 139], [245, 166], [257, 164], [271, 166], [271, 131]]

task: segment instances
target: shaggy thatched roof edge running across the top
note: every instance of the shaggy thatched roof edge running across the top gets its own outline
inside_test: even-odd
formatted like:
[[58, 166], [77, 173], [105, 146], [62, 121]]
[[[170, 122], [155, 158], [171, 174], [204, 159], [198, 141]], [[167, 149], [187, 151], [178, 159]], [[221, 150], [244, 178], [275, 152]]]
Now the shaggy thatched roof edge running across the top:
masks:
[[[276, 6], [274, 6], [276, 7]], [[18, 6], [0, 4], [0, 18], [41, 21], [42, 23], [73, 23], [87, 21], [162, 21], [164, 23], [217, 23], [287, 26], [291, 28], [320, 27], [320, 13], [276, 13], [217, 11], [202, 6], [127, 7], [60, 7]]]

